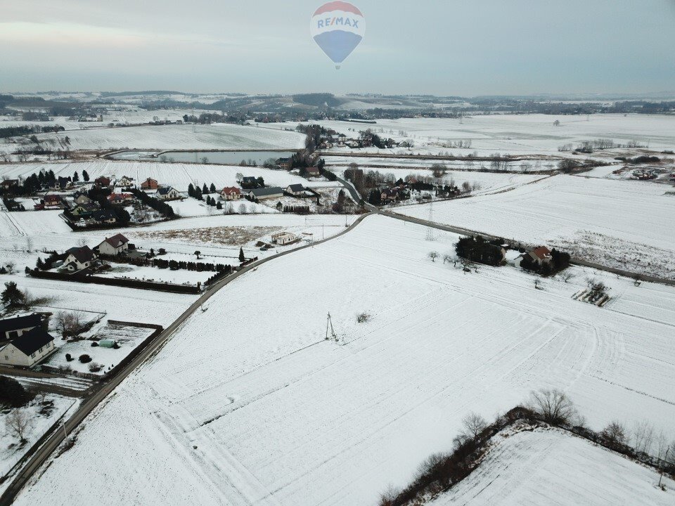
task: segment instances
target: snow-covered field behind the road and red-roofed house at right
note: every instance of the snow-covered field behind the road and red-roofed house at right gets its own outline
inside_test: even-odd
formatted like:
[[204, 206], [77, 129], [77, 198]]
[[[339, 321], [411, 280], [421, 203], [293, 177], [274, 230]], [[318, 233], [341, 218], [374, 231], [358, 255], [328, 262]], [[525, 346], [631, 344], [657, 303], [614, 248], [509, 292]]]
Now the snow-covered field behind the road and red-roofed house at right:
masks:
[[[433, 220], [675, 279], [675, 198], [641, 181], [553, 176], [512, 191], [435, 203]], [[429, 205], [399, 207], [429, 219]]]

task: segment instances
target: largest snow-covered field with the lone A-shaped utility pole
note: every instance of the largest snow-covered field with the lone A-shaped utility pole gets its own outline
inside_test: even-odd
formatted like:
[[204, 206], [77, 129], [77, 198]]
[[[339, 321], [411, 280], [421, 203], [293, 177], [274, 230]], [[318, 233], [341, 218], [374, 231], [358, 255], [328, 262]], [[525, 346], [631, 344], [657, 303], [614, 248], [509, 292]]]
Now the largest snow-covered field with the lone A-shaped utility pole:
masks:
[[[648, 417], [675, 435], [675, 289], [608, 277], [598, 309], [571, 295], [601, 273], [535, 290], [515, 268], [432, 262], [457, 236], [426, 237], [371, 216], [234, 280], [16, 504], [374, 505], [449, 448], [466, 413], [547, 387], [593, 429]], [[339, 342], [324, 340], [328, 312]]]

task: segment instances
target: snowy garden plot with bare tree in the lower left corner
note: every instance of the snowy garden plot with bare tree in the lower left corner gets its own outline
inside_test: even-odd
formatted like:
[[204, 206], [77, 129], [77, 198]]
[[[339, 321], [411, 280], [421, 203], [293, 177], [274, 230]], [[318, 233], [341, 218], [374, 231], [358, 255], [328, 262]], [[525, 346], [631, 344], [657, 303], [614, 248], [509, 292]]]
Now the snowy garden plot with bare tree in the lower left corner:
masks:
[[[9, 408], [0, 409], [0, 476], [5, 476], [10, 469], [23, 457], [25, 452], [47, 432], [68, 411], [74, 411], [79, 406], [79, 399], [46, 394], [44, 400], [39, 395], [20, 410], [25, 411], [30, 418], [30, 427], [25, 438], [26, 443], [20, 444], [18, 437], [6, 429], [6, 420], [10, 416]], [[0, 484], [0, 493], [11, 481]]]

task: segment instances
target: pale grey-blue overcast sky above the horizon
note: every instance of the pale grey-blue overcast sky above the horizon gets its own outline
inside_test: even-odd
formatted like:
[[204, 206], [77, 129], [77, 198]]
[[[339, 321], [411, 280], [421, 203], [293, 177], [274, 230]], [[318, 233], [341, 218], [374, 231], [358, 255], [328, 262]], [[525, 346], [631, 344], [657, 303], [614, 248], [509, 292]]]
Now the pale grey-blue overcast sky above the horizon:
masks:
[[352, 3], [366, 37], [335, 70], [321, 0], [0, 0], [0, 91], [675, 90], [675, 0]]

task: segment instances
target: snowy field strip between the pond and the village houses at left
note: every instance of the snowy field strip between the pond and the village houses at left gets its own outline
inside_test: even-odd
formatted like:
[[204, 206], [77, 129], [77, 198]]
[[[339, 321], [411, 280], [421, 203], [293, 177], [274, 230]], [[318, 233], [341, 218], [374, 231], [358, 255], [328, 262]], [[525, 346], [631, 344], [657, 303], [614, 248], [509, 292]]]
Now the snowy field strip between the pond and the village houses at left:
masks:
[[41, 170], [53, 170], [56, 176], [72, 176], [77, 171], [82, 176], [82, 171], [89, 173], [91, 181], [99, 176], [129, 176], [138, 184], [147, 178], [153, 178], [165, 186], [173, 186], [176, 190], [185, 192], [190, 183], [210, 186], [211, 183], [222, 190], [225, 186], [238, 186], [237, 174], [244, 176], [262, 177], [266, 186], [281, 186], [286, 188], [291, 184], [302, 184], [307, 187], [330, 187], [338, 186], [339, 183], [329, 181], [311, 181], [287, 171], [263, 169], [262, 167], [238, 167], [209, 164], [182, 164], [160, 162], [79, 162], [79, 163], [53, 163], [53, 164], [11, 164], [0, 165], [0, 180], [15, 179], [18, 176], [30, 176]]

